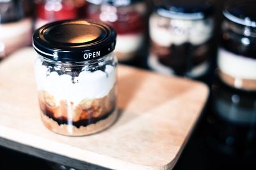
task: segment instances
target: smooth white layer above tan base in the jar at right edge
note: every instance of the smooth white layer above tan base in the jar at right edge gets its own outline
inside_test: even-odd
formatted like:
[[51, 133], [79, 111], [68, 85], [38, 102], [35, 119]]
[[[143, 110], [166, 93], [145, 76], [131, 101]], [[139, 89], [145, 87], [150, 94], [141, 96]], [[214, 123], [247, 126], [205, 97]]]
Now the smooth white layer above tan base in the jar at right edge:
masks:
[[218, 67], [224, 73], [237, 79], [256, 80], [256, 59], [250, 59], [220, 48]]

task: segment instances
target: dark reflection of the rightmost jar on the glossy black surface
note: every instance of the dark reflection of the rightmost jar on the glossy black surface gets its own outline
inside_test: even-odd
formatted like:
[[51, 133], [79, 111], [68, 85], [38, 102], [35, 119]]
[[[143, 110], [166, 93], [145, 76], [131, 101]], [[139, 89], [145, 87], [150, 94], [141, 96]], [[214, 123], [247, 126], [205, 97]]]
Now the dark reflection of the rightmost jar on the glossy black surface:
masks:
[[209, 143], [233, 156], [255, 154], [256, 90], [235, 89], [216, 78], [211, 104]]

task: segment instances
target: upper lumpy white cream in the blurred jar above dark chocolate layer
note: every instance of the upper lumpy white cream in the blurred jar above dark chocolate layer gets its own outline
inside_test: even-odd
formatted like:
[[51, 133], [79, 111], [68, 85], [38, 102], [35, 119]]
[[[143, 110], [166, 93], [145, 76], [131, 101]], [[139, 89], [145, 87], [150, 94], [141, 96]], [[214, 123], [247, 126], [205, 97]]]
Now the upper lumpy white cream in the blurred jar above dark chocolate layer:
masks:
[[191, 43], [201, 45], [209, 40], [213, 31], [213, 20], [175, 20], [153, 14], [149, 20], [152, 41], [161, 46]]

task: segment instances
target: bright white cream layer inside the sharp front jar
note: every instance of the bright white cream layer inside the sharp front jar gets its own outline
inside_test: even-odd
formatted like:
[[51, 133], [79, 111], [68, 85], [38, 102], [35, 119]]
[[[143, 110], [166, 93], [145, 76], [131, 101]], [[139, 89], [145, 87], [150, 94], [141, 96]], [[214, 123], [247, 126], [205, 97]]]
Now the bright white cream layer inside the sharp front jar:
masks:
[[56, 71], [47, 76], [47, 67], [38, 59], [35, 64], [38, 90], [45, 90], [56, 100], [67, 100], [79, 103], [83, 99], [97, 99], [107, 96], [116, 82], [116, 69], [107, 65], [103, 71], [81, 71], [72, 83], [72, 76], [58, 75]]

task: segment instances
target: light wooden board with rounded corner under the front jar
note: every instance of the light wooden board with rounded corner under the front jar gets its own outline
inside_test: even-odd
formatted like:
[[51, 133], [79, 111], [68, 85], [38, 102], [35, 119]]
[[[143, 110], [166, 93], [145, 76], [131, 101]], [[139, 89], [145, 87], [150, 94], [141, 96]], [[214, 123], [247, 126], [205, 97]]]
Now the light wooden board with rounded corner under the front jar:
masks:
[[118, 66], [116, 123], [91, 136], [61, 136], [40, 121], [35, 59], [24, 48], [0, 64], [0, 137], [110, 169], [172, 169], [208, 96], [202, 83]]

